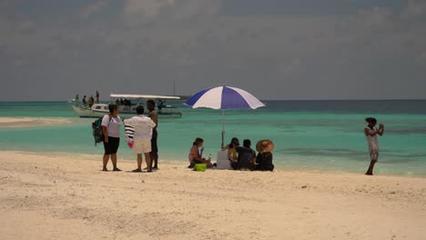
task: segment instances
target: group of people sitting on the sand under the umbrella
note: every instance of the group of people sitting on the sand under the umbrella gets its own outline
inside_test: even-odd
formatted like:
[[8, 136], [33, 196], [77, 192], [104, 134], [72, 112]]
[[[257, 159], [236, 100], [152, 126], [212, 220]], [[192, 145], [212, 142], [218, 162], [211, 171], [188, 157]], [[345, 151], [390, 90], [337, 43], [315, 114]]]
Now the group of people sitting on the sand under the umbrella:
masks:
[[[188, 168], [193, 168], [196, 164], [206, 164], [208, 168], [215, 167], [217, 164], [211, 162], [210, 157], [203, 157], [204, 140], [197, 137], [189, 150]], [[229, 166], [234, 170], [251, 170], [251, 171], [273, 171], [272, 164], [273, 143], [268, 140], [260, 140], [257, 144], [259, 154], [251, 148], [251, 141], [244, 139], [243, 145], [239, 145], [237, 137], [233, 137], [228, 145], [222, 147], [222, 151], [227, 151], [227, 159]]]

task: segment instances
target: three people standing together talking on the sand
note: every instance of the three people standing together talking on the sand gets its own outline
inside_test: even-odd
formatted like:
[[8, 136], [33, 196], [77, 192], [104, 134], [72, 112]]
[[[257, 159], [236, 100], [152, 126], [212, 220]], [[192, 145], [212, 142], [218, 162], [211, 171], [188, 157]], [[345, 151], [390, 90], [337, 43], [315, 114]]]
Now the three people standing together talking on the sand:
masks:
[[120, 128], [123, 122], [126, 126], [131, 126], [132, 135], [128, 137], [127, 143], [137, 154], [137, 168], [132, 172], [142, 172], [142, 155], [145, 156], [147, 162], [147, 172], [158, 169], [158, 147], [157, 147], [157, 125], [158, 116], [155, 110], [156, 103], [154, 100], [147, 100], [148, 115], [144, 115], [145, 108], [138, 105], [136, 108], [137, 115], [122, 119], [118, 115], [118, 105], [108, 105], [109, 114], [102, 118], [102, 132], [104, 133], [103, 171], [108, 171], [106, 166], [111, 159], [113, 171], [121, 171], [117, 167], [117, 150], [120, 145]]

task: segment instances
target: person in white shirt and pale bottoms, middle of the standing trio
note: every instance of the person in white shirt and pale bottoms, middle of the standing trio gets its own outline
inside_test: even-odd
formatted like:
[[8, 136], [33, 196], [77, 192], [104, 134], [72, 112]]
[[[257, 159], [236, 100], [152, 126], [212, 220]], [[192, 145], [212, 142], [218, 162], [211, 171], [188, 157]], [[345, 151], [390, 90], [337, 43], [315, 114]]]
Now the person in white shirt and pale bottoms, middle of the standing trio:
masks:
[[145, 161], [147, 162], [147, 172], [152, 172], [149, 153], [151, 152], [152, 129], [156, 124], [151, 118], [143, 115], [144, 110], [142, 105], [138, 105], [137, 115], [124, 120], [125, 125], [131, 125], [135, 129], [133, 151], [137, 154], [137, 169], [132, 172], [142, 172], [142, 154], [145, 155]]

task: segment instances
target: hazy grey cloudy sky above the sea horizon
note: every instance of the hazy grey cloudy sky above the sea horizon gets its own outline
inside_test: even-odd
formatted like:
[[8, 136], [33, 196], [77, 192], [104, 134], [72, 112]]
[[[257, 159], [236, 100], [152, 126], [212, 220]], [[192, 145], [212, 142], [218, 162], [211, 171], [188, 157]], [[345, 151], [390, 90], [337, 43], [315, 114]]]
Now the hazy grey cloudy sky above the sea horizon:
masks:
[[[425, 99], [425, 0], [0, 0], [0, 101]], [[173, 88], [176, 83], [176, 88]]]

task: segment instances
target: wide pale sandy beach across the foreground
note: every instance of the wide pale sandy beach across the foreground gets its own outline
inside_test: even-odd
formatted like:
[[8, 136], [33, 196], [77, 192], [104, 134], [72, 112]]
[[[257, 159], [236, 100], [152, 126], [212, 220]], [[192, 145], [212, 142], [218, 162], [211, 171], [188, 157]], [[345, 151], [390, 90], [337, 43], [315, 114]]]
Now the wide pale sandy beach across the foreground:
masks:
[[1, 239], [425, 239], [426, 179], [1, 152]]

